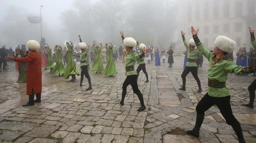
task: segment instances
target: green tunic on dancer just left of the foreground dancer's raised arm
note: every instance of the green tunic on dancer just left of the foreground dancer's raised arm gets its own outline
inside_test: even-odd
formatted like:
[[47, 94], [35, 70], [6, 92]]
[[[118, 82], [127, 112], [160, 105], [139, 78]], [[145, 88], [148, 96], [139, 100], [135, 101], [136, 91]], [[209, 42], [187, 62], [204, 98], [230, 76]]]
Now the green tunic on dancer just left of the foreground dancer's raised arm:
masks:
[[183, 39], [184, 46], [186, 47], [186, 49], [188, 51], [187, 67], [196, 67], [197, 66], [196, 59], [197, 59], [197, 56], [200, 54], [199, 50], [197, 50], [198, 48], [190, 49], [184, 35], [182, 36], [182, 39]]

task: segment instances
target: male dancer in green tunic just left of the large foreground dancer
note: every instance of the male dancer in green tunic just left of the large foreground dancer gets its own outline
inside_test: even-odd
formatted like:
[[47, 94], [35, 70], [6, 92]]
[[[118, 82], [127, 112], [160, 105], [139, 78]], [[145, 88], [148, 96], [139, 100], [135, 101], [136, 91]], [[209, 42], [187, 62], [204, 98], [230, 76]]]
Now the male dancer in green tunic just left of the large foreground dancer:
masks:
[[196, 66], [196, 59], [200, 53], [199, 53], [199, 50], [195, 49], [196, 44], [193, 39], [189, 40], [189, 42], [188, 42], [189, 44], [187, 43], [185, 36], [184, 36], [185, 34], [186, 33], [181, 31], [184, 46], [186, 47], [186, 49], [188, 51], [188, 62], [187, 62], [187, 66], [183, 70], [183, 73], [181, 74], [183, 85], [182, 85], [182, 88], [180, 88], [179, 90], [186, 90], [186, 76], [191, 72], [191, 74], [193, 75], [193, 77], [196, 80], [197, 85], [199, 87], [199, 90], [197, 92], [201, 93], [202, 92], [201, 82], [197, 75], [197, 66]]

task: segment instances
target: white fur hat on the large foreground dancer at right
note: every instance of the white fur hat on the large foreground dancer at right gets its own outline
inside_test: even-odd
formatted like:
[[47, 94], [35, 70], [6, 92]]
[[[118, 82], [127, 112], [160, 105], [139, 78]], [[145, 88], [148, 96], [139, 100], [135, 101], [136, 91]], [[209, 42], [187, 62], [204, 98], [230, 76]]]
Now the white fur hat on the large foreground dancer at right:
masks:
[[237, 44], [232, 39], [221, 35], [215, 39], [214, 46], [226, 53], [231, 53], [234, 48], [236, 48]]

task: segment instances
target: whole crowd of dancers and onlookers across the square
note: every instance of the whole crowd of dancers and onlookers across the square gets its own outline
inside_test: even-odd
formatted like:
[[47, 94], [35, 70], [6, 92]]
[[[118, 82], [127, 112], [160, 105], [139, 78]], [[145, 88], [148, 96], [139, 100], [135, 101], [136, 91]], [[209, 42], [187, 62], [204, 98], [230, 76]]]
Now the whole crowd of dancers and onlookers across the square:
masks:
[[[196, 30], [193, 26], [191, 26], [193, 39], [190, 39], [188, 42], [185, 39], [185, 33], [181, 31], [186, 51], [184, 52], [184, 71], [181, 74], [183, 86], [180, 88], [180, 90], [186, 90], [186, 76], [191, 72], [199, 88], [197, 92], [201, 93], [201, 82], [197, 75], [197, 70], [199, 66], [202, 65], [202, 56], [205, 56], [210, 63], [208, 69], [208, 92], [205, 94], [205, 96], [203, 96], [196, 106], [197, 115], [195, 127], [192, 130], [188, 130], [187, 133], [195, 137], [199, 137], [199, 130], [203, 123], [205, 111], [207, 111], [213, 105], [216, 105], [220, 109], [220, 113], [225, 118], [227, 124], [231, 125], [231, 127], [234, 129], [239, 143], [245, 143], [240, 123], [232, 114], [230, 92], [226, 87], [226, 79], [228, 73], [248, 75], [249, 73], [256, 72], [256, 66], [254, 66], [256, 49], [256, 41], [254, 36], [255, 30], [249, 27], [251, 44], [253, 48], [250, 48], [250, 52], [246, 52], [246, 48], [241, 47], [237, 53], [237, 64], [233, 63], [232, 59], [227, 57], [228, 53], [232, 53], [234, 48], [236, 48], [236, 42], [226, 36], [218, 36], [214, 42], [214, 50], [209, 51], [201, 43], [197, 35], [198, 31], [199, 29]], [[90, 45], [87, 43], [82, 42], [80, 35], [78, 35], [80, 43], [77, 46], [75, 46], [72, 41], [66, 42], [65, 48], [68, 50], [65, 48], [62, 50], [60, 45], [55, 45], [54, 50], [52, 50], [47, 44], [44, 45], [44, 50], [42, 50], [41, 44], [35, 40], [30, 40], [27, 43], [29, 50], [25, 52], [24, 49], [20, 49], [20, 47], [17, 46], [15, 49], [15, 55], [13, 52], [11, 53], [11, 50], [9, 52], [9, 50], [3, 46], [0, 49], [1, 61], [4, 64], [4, 69], [7, 64], [6, 60], [14, 60], [18, 64], [18, 82], [24, 82], [26, 79], [27, 95], [29, 95], [29, 102], [23, 106], [30, 106], [35, 105], [35, 102], [41, 102], [42, 65], [44, 65], [44, 63], [46, 64], [45, 70], [50, 69], [51, 74], [58, 73], [59, 77], [63, 76], [64, 79], [69, 79], [71, 76], [71, 81], [75, 81], [75, 75], [81, 75], [80, 86], [83, 86], [82, 83], [85, 76], [89, 83], [89, 88], [86, 90], [91, 90], [91, 78], [88, 72], [88, 69], [90, 69], [89, 53], [91, 63], [93, 62], [91, 71], [96, 71], [96, 73], [103, 72], [103, 75], [105, 76], [113, 76], [117, 74], [115, 61], [117, 60], [119, 53], [120, 60], [122, 59], [124, 62], [124, 67], [126, 69], [125, 75], [127, 76], [122, 85], [122, 98], [120, 104], [124, 105], [127, 87], [131, 85], [133, 92], [138, 96], [141, 104], [141, 107], [137, 111], [143, 111], [146, 109], [146, 106], [144, 104], [143, 95], [138, 88], [137, 81], [139, 72], [142, 70], [146, 76], [145, 82], [149, 82], [144, 58], [146, 58], [148, 64], [153, 61], [155, 62], [156, 66], [160, 66], [160, 57], [163, 62], [165, 62], [166, 51], [164, 47], [161, 50], [159, 50], [157, 46], [155, 49], [153, 46], [147, 46], [146, 48], [145, 44], [139, 44], [138, 39], [135, 40], [133, 38], [124, 38], [122, 31], [120, 32], [120, 35], [124, 48], [120, 46], [118, 50], [111, 42], [107, 42], [103, 46], [102, 43], [96, 43], [95, 41], [90, 47]], [[45, 39], [43, 42], [41, 40], [40, 43], [45, 43]], [[133, 50], [134, 47], [136, 50]], [[106, 53], [105, 56], [104, 53], [102, 53], [103, 50]], [[53, 53], [55, 54], [55, 58], [53, 57]], [[173, 50], [171, 46], [166, 53], [168, 54], [169, 67], [172, 67]], [[153, 58], [153, 54], [155, 54], [155, 58]], [[66, 68], [63, 66], [64, 60], [67, 64]], [[104, 62], [106, 62], [105, 68], [103, 67]], [[136, 62], [139, 63], [139, 66], [135, 71], [134, 66]], [[78, 63], [80, 63], [81, 74], [77, 69]], [[248, 63], [250, 67], [247, 67]], [[254, 80], [248, 87], [250, 101], [248, 104], [242, 104], [243, 106], [254, 108], [256, 90], [255, 85], [256, 80]], [[34, 95], [36, 95], [36, 100], [34, 100]]]

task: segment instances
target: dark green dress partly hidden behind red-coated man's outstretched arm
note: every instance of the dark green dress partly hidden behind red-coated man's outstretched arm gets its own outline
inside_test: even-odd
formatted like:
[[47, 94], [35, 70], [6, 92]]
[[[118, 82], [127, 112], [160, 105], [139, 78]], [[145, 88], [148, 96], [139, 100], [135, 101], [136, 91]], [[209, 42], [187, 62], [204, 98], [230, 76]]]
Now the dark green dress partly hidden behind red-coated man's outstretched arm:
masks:
[[[20, 50], [21, 51], [21, 50]], [[20, 54], [20, 57], [25, 57], [25, 51]], [[18, 63], [19, 77], [18, 83], [27, 82], [28, 63]]]

